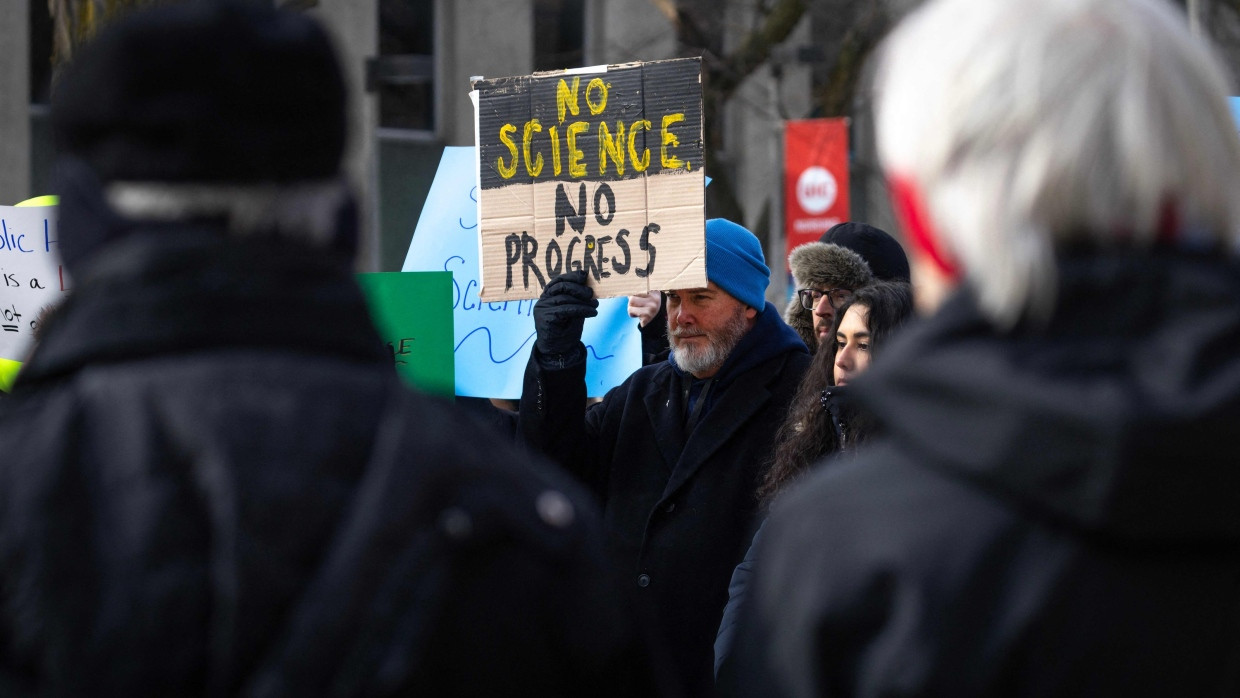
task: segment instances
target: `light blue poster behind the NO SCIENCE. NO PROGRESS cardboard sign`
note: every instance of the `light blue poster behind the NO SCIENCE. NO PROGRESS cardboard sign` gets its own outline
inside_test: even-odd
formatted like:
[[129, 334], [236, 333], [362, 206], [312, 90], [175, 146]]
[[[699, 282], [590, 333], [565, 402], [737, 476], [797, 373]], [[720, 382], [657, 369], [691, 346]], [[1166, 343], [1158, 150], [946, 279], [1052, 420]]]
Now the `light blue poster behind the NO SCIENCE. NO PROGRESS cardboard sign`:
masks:
[[[445, 148], [418, 217], [403, 272], [451, 272], [456, 394], [521, 397], [534, 341], [533, 300], [479, 300], [477, 203], [474, 148]], [[601, 397], [641, 366], [637, 321], [624, 298], [599, 301], [585, 321], [585, 389]]]

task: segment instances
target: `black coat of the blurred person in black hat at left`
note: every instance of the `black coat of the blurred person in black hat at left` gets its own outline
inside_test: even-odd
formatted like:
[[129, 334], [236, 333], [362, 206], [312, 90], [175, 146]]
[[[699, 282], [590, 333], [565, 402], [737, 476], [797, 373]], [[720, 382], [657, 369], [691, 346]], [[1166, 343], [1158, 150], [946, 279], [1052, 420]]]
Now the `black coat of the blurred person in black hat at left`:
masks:
[[404, 389], [343, 263], [135, 234], [0, 407], [0, 694], [653, 691], [554, 469]]

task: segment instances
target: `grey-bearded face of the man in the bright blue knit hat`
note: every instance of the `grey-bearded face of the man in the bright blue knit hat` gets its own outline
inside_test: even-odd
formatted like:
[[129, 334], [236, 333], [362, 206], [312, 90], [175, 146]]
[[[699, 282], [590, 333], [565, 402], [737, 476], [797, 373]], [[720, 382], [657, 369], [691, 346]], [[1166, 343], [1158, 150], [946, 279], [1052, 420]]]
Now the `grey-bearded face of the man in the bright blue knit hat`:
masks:
[[667, 291], [667, 338], [676, 364], [697, 378], [714, 376], [754, 326], [758, 311], [709, 281]]

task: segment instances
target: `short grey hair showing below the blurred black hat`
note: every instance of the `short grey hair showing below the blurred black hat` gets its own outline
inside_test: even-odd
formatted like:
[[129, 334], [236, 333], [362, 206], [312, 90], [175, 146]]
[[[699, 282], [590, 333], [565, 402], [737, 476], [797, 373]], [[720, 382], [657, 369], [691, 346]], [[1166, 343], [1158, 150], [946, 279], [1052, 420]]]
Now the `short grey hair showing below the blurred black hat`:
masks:
[[141, 221], [223, 217], [237, 237], [277, 236], [330, 247], [339, 212], [348, 201], [340, 179], [293, 183], [113, 182], [108, 203]]

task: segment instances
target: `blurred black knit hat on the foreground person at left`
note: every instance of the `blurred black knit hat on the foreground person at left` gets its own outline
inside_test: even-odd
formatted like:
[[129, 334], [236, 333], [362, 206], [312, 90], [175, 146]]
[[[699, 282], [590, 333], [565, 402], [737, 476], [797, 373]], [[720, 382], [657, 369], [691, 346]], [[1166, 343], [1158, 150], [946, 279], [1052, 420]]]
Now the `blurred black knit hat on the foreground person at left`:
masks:
[[104, 182], [326, 179], [345, 149], [345, 84], [309, 16], [191, 0], [105, 27], [57, 84], [52, 125]]

